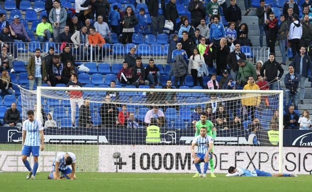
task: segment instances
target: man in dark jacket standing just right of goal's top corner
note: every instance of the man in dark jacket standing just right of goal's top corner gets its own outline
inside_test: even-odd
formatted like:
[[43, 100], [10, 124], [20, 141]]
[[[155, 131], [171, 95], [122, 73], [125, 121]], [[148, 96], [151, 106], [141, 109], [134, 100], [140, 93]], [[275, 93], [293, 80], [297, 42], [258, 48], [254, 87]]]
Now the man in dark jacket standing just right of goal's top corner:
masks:
[[298, 109], [298, 85], [300, 81], [300, 76], [298, 73], [294, 72], [293, 66], [288, 66], [288, 71], [284, 77], [285, 83], [285, 109], [287, 109], [290, 97], [292, 98], [294, 109]]

